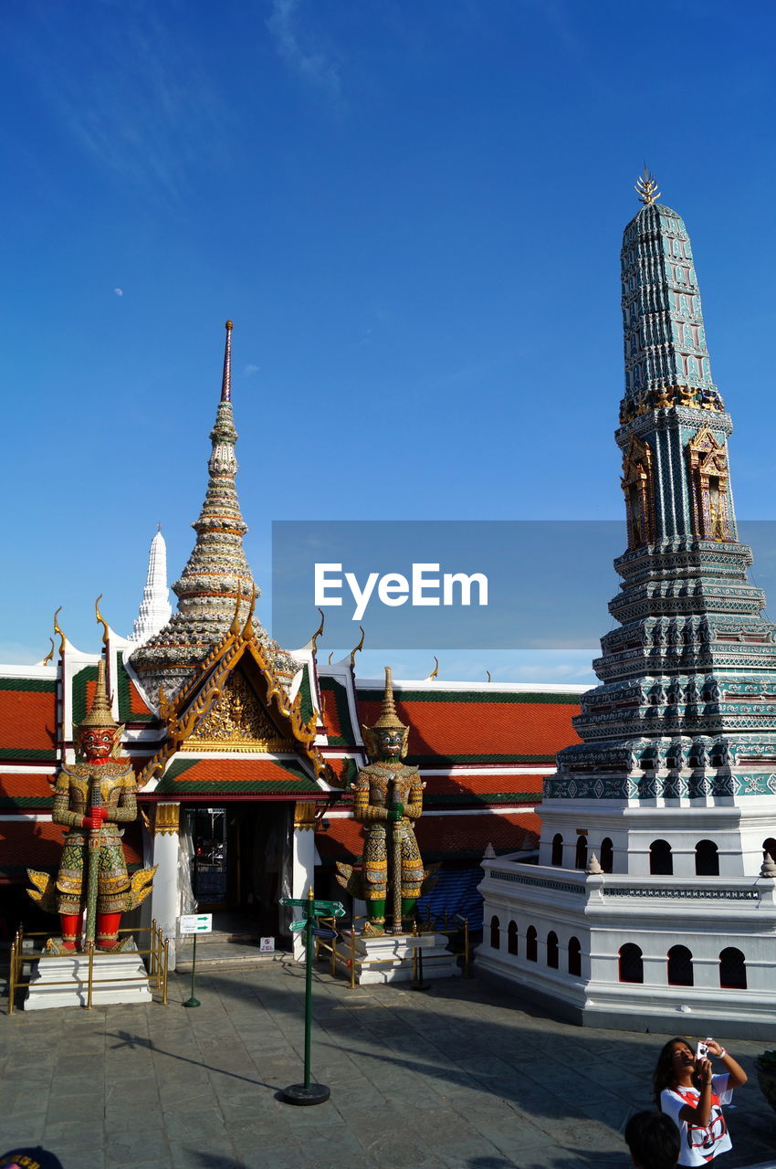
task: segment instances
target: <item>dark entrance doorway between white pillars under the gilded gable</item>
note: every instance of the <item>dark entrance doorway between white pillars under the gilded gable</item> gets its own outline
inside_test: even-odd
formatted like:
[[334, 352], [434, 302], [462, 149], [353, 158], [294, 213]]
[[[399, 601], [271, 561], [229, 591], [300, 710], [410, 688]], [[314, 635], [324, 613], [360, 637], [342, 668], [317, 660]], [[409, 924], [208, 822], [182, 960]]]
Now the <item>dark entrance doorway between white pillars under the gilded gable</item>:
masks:
[[185, 809], [192, 891], [214, 928], [234, 935], [273, 936], [291, 895], [293, 802], [240, 801]]

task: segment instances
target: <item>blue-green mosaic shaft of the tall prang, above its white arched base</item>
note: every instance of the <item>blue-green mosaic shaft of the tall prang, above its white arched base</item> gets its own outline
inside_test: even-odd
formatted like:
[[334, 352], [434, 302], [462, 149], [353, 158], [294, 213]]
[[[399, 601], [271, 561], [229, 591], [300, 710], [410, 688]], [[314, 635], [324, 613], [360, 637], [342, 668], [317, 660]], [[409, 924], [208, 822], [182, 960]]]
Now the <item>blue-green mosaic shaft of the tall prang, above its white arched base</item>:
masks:
[[[609, 606], [618, 627], [602, 639], [602, 684], [575, 720], [583, 741], [559, 755], [545, 809], [616, 801], [637, 812], [633, 823], [645, 807], [670, 812], [666, 825], [677, 810], [718, 809], [719, 831], [735, 839], [709, 830], [706, 867], [716, 845], [723, 870], [756, 872], [776, 835], [776, 627], [762, 616], [764, 595], [747, 577], [751, 552], [737, 539], [733, 423], [712, 381], [690, 237], [681, 216], [654, 201], [651, 177], [637, 189], [644, 206], [621, 253], [616, 440], [628, 551]], [[614, 849], [616, 870], [633, 871], [632, 844]]]

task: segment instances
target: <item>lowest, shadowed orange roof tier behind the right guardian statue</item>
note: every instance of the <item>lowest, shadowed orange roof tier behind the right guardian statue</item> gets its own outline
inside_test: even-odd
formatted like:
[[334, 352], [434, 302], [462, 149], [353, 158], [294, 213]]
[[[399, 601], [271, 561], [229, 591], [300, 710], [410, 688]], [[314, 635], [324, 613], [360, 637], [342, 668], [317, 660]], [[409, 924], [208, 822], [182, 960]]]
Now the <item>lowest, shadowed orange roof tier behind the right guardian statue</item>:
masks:
[[[328, 830], [316, 833], [318, 852], [332, 860], [353, 860], [363, 852], [363, 826], [356, 819], [332, 817]], [[534, 849], [541, 821], [535, 812], [472, 812], [470, 816], [421, 816], [415, 826], [427, 860], [439, 857], [481, 857], [492, 844], [497, 852]]]

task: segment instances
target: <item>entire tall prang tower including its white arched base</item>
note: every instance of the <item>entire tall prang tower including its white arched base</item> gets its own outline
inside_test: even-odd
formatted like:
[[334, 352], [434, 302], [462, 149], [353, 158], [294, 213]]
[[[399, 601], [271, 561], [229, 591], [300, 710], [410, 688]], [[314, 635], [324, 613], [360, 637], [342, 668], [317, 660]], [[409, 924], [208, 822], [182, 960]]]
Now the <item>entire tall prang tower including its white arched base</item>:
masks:
[[737, 537], [690, 237], [646, 171], [636, 189], [617, 628], [545, 782], [539, 865], [484, 862], [479, 961], [580, 1022], [776, 1036], [776, 625]]

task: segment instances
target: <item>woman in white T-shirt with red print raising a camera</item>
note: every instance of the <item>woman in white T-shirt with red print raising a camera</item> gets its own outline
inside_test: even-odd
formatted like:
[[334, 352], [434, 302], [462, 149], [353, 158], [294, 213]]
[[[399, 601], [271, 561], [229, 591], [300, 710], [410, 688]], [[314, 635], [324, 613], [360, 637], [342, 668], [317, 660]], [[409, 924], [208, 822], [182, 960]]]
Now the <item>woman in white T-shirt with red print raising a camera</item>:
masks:
[[680, 1165], [705, 1165], [732, 1148], [722, 1105], [730, 1102], [733, 1088], [747, 1082], [744, 1070], [716, 1039], [707, 1039], [706, 1047], [722, 1060], [725, 1071], [719, 1075], [712, 1075], [711, 1059], [695, 1059], [686, 1039], [670, 1039], [652, 1079], [658, 1108], [679, 1129]]

